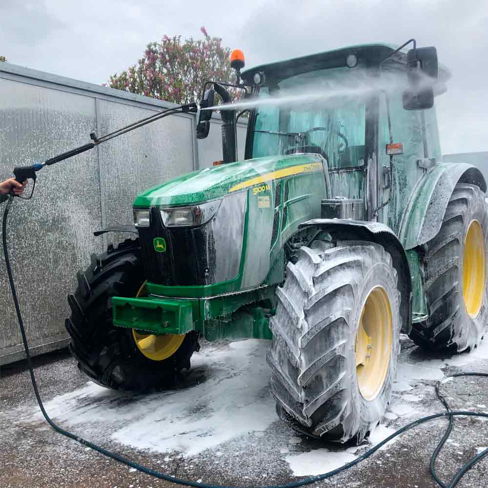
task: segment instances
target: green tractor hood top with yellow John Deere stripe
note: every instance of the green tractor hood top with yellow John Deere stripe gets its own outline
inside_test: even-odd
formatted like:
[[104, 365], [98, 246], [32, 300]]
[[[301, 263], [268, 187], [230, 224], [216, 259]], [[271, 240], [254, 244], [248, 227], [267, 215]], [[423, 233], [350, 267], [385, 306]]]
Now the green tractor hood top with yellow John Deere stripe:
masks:
[[175, 178], [140, 193], [136, 208], [202, 203], [228, 193], [300, 173], [322, 171], [326, 164], [318, 154], [290, 154], [221, 164]]

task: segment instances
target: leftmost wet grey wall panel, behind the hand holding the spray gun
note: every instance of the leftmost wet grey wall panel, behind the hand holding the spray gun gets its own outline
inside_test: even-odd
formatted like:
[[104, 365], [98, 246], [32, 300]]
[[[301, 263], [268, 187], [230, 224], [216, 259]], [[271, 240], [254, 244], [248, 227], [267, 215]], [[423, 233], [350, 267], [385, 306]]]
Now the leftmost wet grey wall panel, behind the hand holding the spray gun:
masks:
[[[16, 165], [42, 161], [81, 145], [95, 127], [93, 98], [0, 79], [1, 177], [10, 176]], [[32, 200], [15, 200], [8, 242], [33, 345], [65, 336], [66, 295], [76, 283], [77, 269], [88, 262], [91, 252], [101, 250], [91, 235], [100, 224], [96, 151], [39, 173]], [[0, 283], [0, 356], [8, 359], [21, 337], [3, 259]], [[7, 359], [0, 357], [0, 364]]]

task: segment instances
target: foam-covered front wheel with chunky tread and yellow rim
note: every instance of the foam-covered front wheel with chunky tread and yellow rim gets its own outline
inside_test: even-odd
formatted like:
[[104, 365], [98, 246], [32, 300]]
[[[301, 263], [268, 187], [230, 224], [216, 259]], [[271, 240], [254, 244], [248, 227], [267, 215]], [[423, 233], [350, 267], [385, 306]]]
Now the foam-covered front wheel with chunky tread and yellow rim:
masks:
[[359, 440], [391, 396], [400, 292], [391, 256], [370, 242], [316, 241], [286, 266], [267, 361], [280, 417], [314, 437]]

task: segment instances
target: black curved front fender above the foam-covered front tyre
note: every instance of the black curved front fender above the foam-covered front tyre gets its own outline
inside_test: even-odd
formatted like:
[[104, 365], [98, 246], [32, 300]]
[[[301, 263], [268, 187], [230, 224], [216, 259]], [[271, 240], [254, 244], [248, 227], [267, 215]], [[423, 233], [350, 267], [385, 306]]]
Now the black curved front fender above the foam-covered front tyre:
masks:
[[402, 316], [402, 332], [408, 334], [411, 325], [412, 282], [407, 254], [393, 231], [384, 224], [349, 219], [313, 219], [300, 225], [303, 227], [319, 227], [340, 240], [364, 240], [381, 244], [391, 255], [393, 266], [398, 273], [398, 289], [402, 295], [400, 314]]

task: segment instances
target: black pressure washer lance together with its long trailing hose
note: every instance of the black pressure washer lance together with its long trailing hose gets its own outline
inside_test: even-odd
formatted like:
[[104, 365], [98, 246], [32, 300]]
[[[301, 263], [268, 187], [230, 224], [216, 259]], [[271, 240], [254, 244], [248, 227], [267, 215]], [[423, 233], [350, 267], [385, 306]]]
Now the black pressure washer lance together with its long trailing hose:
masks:
[[[93, 142], [89, 142], [88, 144], [84, 144], [80, 147], [77, 147], [75, 149], [72, 149], [71, 151], [64, 152], [58, 156], [55, 156], [54, 158], [50, 158], [44, 163], [38, 163], [38, 164], [33, 164], [31, 166], [17, 166], [14, 168], [14, 175], [15, 179], [19, 182], [22, 183], [26, 179], [32, 179], [34, 181], [34, 186], [36, 183], [36, 173], [40, 171], [44, 166], [49, 166], [54, 163], [59, 163], [60, 161], [63, 161], [65, 159], [71, 158], [72, 156], [76, 156], [77, 154], [80, 154], [84, 151], [88, 151], [89, 149], [93, 149], [96, 145], [101, 144], [102, 142], [108, 141], [110, 139], [113, 139], [114, 137], [120, 136], [122, 134], [125, 134], [126, 132], [129, 132], [131, 130], [134, 130], [138, 127], [142, 127], [142, 125], [145, 125], [150, 122], [154, 122], [156, 120], [162, 119], [163, 117], [167, 117], [169, 115], [173, 115], [175, 113], [179, 112], [196, 112], [197, 111], [197, 105], [195, 103], [189, 103], [187, 105], [180, 105], [178, 107], [174, 108], [168, 108], [166, 110], [163, 110], [162, 112], [159, 112], [157, 114], [154, 114], [150, 117], [147, 117], [145, 119], [142, 119], [140, 121], [134, 122], [130, 125], [126, 125], [125, 127], [122, 127], [122, 129], [118, 129], [114, 132], [111, 132], [110, 134], [106, 134], [105, 136], [101, 137], [98, 139], [94, 133], [90, 134], [90, 137]], [[32, 188], [31, 195], [24, 200], [28, 200], [32, 197], [32, 194], [34, 193], [34, 187]], [[44, 409], [44, 405], [42, 404], [42, 399], [41, 395], [39, 393], [39, 389], [37, 386], [36, 382], [36, 377], [34, 376], [34, 369], [32, 367], [32, 359], [31, 359], [31, 354], [29, 350], [29, 345], [27, 343], [27, 337], [25, 335], [25, 328], [24, 328], [24, 323], [22, 320], [22, 314], [20, 313], [20, 306], [19, 306], [19, 300], [17, 299], [17, 292], [15, 289], [15, 284], [14, 284], [14, 278], [12, 275], [12, 267], [10, 265], [10, 259], [8, 255], [8, 247], [7, 247], [7, 217], [8, 217], [8, 212], [10, 209], [10, 206], [13, 202], [14, 195], [13, 193], [10, 194], [7, 205], [5, 207], [5, 211], [3, 212], [3, 221], [2, 221], [2, 244], [3, 244], [3, 254], [5, 256], [5, 264], [7, 267], [7, 274], [8, 274], [8, 280], [10, 283], [10, 289], [12, 290], [12, 298], [14, 300], [14, 305], [15, 305], [15, 311], [17, 313], [17, 319], [19, 321], [19, 327], [20, 327], [20, 334], [22, 335], [22, 343], [24, 346], [25, 350], [25, 356], [27, 359], [27, 365], [29, 367], [29, 373], [30, 373], [30, 378], [32, 382], [32, 387], [34, 389], [34, 393], [36, 395], [37, 402], [39, 404], [39, 408], [41, 409], [42, 415], [46, 419], [46, 422], [58, 433], [69, 437], [70, 439], [73, 439], [74, 441], [79, 442], [81, 445], [90, 447], [91, 449], [100, 452], [101, 454], [114, 459], [115, 461], [118, 461], [119, 463], [122, 463], [126, 466], [129, 466], [130, 468], [135, 468], [138, 469], [139, 471], [149, 474], [151, 476], [154, 476], [156, 478], [160, 478], [166, 481], [170, 481], [172, 483], [176, 483], [179, 485], [185, 485], [185, 486], [190, 486], [190, 487], [195, 487], [195, 488], [234, 488], [234, 487], [224, 487], [224, 486], [219, 486], [219, 485], [210, 485], [206, 483], [198, 483], [195, 481], [190, 481], [190, 480], [183, 480], [180, 478], [174, 478], [172, 476], [169, 476], [167, 474], [164, 474], [160, 471], [157, 471], [155, 469], [147, 468], [145, 466], [142, 466], [134, 461], [131, 461], [130, 459], [127, 459], [120, 454], [117, 454], [115, 452], [111, 452], [108, 449], [105, 449], [103, 447], [97, 446], [96, 444], [93, 444], [90, 441], [86, 441], [85, 439], [79, 437], [76, 434], [73, 434], [72, 432], [69, 432], [67, 430], [64, 430], [63, 428], [59, 427], [56, 425], [49, 415], [47, 414], [46, 410]], [[20, 197], [22, 198], [22, 197]], [[457, 373], [453, 374], [452, 377], [458, 377], [458, 376], [485, 376], [488, 377], [488, 373]], [[435, 471], [435, 461], [437, 458], [437, 455], [441, 451], [442, 447], [444, 446], [444, 443], [447, 441], [447, 438], [452, 430], [453, 427], [453, 418], [457, 416], [469, 416], [469, 417], [484, 417], [488, 418], [488, 413], [477, 413], [477, 412], [471, 412], [471, 411], [451, 411], [449, 405], [447, 404], [447, 401], [445, 398], [442, 396], [442, 394], [439, 391], [439, 386], [445, 382], [439, 381], [437, 382], [436, 385], [436, 394], [439, 398], [439, 400], [443, 403], [444, 407], [446, 407], [446, 411], [442, 413], [436, 413], [433, 415], [428, 415], [427, 417], [422, 417], [418, 420], [415, 420], [411, 422], [410, 424], [406, 425], [405, 427], [402, 427], [398, 429], [396, 432], [388, 436], [386, 439], [384, 439], [382, 442], [377, 444], [376, 446], [371, 447], [368, 449], [364, 454], [359, 456], [358, 458], [354, 459], [353, 461], [345, 464], [344, 466], [341, 466], [340, 468], [333, 469], [332, 471], [328, 471], [324, 474], [319, 474], [317, 476], [310, 476], [308, 478], [299, 480], [299, 481], [294, 481], [291, 483], [287, 483], [285, 485], [271, 485], [263, 488], [298, 488], [301, 486], [305, 485], [310, 485], [311, 483], [315, 483], [317, 481], [325, 480], [327, 478], [331, 478], [332, 476], [335, 476], [336, 474], [339, 474], [346, 469], [352, 468], [353, 466], [356, 466], [359, 464], [361, 461], [364, 461], [366, 458], [371, 456], [374, 452], [376, 452], [380, 447], [384, 446], [387, 442], [391, 441], [394, 439], [396, 436], [402, 434], [403, 432], [406, 432], [407, 430], [417, 427], [421, 424], [424, 424], [425, 422], [429, 422], [431, 420], [435, 420], [438, 418], [442, 417], [447, 417], [449, 419], [449, 425], [446, 429], [446, 432], [437, 445], [435, 451], [432, 453], [432, 456], [430, 457], [430, 474], [434, 481], [441, 487], [441, 488], [453, 488], [458, 484], [458, 482], [461, 480], [461, 477], [466, 473], [466, 471], [471, 468], [475, 463], [477, 463], [479, 460], [483, 459], [485, 456], [488, 455], [488, 448], [479, 453], [478, 455], [474, 456], [471, 458], [468, 463], [463, 465], [456, 473], [454, 478], [451, 480], [451, 482], [446, 485], [443, 483], [440, 478], [437, 476], [437, 473]]]

